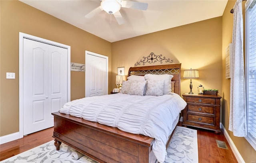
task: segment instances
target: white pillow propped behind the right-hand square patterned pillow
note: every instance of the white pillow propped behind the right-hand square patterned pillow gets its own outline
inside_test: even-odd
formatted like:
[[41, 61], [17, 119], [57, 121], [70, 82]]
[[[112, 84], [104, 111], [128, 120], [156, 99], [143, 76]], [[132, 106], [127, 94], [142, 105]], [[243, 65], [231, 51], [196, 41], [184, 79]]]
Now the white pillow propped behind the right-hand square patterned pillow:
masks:
[[164, 94], [172, 94], [171, 82], [172, 82], [173, 75], [146, 74], [144, 77], [146, 80], [149, 80], [149, 81], [164, 81]]

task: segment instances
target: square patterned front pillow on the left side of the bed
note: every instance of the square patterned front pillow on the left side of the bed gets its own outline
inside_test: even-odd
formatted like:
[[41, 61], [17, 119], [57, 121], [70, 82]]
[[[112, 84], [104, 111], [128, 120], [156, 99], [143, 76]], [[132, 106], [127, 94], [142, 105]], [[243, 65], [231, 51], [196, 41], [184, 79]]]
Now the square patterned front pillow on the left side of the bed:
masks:
[[144, 95], [144, 89], [146, 85], [146, 81], [129, 81], [130, 82], [130, 89], [128, 94], [130, 95]]

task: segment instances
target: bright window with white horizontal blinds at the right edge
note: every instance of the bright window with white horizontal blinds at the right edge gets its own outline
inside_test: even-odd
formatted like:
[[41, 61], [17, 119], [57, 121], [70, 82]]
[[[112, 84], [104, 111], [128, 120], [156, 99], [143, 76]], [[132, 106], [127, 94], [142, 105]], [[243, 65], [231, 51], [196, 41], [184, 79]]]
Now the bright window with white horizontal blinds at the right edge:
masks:
[[247, 0], [245, 6], [246, 139], [256, 150], [256, 0]]

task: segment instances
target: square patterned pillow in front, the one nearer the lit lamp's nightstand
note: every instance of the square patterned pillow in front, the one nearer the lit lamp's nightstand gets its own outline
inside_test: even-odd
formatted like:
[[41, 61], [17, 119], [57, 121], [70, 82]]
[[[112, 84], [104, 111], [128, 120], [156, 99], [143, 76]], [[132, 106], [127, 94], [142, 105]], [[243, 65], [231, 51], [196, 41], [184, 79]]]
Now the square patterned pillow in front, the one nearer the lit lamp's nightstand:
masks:
[[147, 80], [146, 95], [148, 96], [162, 96], [164, 93], [164, 81], [150, 81]]

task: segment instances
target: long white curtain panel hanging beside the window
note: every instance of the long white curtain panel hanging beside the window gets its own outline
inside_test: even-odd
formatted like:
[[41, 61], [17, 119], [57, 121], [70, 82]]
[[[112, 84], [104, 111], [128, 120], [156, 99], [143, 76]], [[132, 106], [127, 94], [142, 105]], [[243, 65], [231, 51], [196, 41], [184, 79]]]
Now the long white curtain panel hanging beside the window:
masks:
[[234, 6], [232, 45], [229, 130], [234, 136], [246, 137], [242, 0], [237, 0]]

